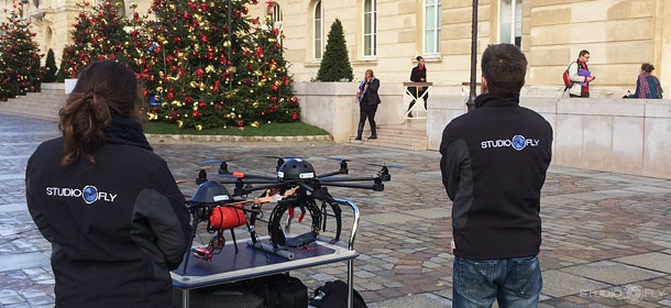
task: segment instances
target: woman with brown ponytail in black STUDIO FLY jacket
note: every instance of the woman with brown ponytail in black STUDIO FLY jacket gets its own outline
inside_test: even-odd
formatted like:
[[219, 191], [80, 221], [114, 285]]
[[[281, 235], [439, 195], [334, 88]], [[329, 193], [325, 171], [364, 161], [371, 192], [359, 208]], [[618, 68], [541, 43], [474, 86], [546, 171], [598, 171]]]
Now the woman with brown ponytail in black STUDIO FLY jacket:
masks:
[[142, 124], [135, 73], [94, 62], [28, 162], [28, 208], [52, 243], [56, 308], [172, 307], [191, 237], [185, 198]]

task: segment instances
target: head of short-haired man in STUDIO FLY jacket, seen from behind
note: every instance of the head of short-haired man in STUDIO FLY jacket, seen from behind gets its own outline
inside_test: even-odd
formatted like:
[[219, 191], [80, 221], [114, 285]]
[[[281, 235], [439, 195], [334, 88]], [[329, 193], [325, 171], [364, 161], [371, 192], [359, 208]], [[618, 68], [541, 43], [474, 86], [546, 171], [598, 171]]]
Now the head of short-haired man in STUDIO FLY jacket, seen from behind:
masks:
[[499, 97], [518, 97], [525, 85], [527, 57], [513, 44], [490, 45], [482, 54], [482, 76], [488, 92]]

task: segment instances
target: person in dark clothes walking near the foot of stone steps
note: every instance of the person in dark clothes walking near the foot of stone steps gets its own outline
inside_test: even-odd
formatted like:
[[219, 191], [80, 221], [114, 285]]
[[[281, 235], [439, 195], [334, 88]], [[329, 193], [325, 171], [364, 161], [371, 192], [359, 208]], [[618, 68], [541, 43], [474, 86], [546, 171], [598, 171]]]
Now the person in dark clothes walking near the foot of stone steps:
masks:
[[380, 89], [380, 79], [375, 78], [373, 69], [366, 69], [364, 79], [359, 84], [359, 89], [356, 91], [356, 102], [359, 102], [359, 128], [356, 129], [356, 140], [361, 140], [366, 119], [369, 119], [369, 124], [371, 125], [371, 136], [369, 136], [369, 139], [377, 139], [375, 112], [377, 112], [377, 105], [381, 102], [377, 89]]

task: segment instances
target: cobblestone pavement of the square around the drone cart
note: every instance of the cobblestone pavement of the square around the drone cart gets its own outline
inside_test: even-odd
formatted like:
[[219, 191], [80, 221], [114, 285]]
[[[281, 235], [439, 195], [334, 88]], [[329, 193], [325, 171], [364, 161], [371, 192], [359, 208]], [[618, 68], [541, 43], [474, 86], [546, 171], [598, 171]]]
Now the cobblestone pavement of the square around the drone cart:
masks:
[[[57, 134], [53, 122], [0, 114], [0, 307], [53, 307], [51, 248], [25, 209], [23, 177], [30, 154]], [[256, 174], [274, 170], [275, 161], [263, 156], [306, 156], [318, 173], [338, 168], [322, 157], [345, 157], [362, 176], [378, 169], [369, 163], [404, 166], [391, 169], [385, 191], [330, 189], [361, 210], [355, 288], [372, 308], [451, 307], [451, 204], [439, 153], [309, 143], [153, 146], [177, 179], [195, 178], [199, 162], [212, 158], [237, 158], [231, 168]], [[196, 185], [182, 188], [188, 195]], [[542, 191], [540, 307], [671, 307], [670, 191], [667, 179], [552, 166]], [[312, 290], [345, 279], [346, 263], [292, 275]]]

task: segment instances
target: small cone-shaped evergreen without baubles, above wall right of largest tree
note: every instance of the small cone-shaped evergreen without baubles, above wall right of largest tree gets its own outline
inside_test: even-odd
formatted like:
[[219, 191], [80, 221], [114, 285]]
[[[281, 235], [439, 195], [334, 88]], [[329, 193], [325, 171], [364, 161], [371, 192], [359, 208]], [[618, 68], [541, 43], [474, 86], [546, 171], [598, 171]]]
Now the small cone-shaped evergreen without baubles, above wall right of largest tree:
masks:
[[319, 81], [352, 81], [354, 74], [348, 56], [348, 46], [344, 40], [342, 23], [336, 19], [331, 24], [326, 51], [321, 57], [317, 80]]

